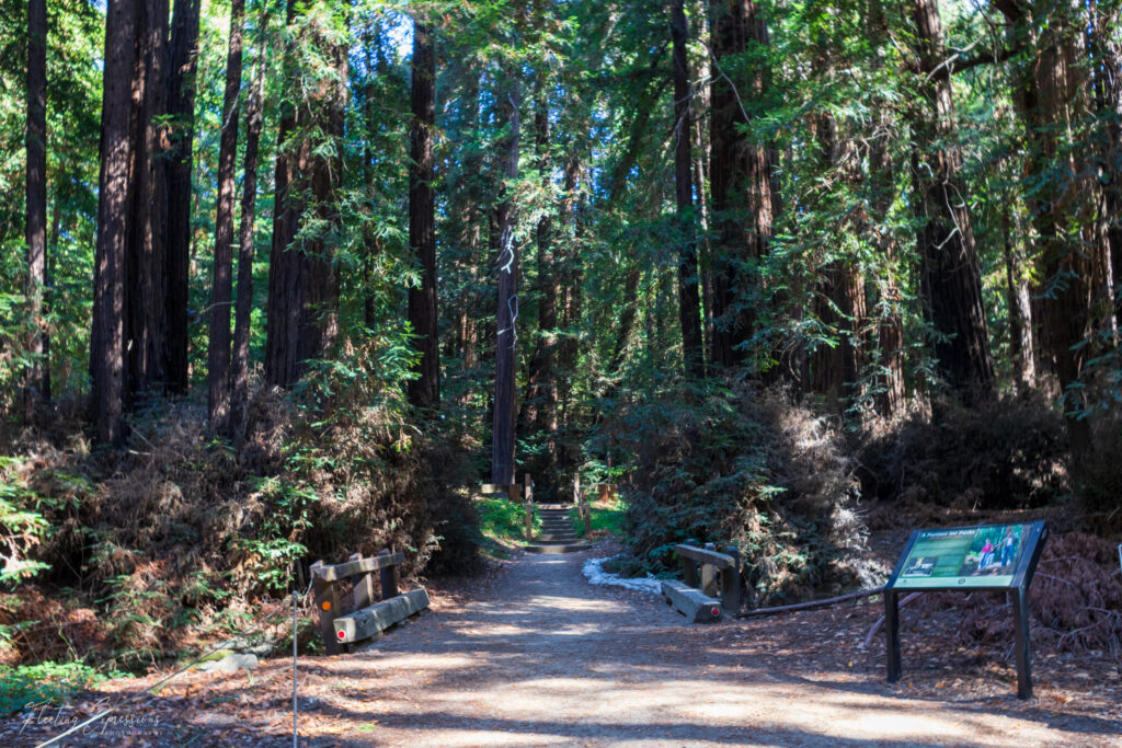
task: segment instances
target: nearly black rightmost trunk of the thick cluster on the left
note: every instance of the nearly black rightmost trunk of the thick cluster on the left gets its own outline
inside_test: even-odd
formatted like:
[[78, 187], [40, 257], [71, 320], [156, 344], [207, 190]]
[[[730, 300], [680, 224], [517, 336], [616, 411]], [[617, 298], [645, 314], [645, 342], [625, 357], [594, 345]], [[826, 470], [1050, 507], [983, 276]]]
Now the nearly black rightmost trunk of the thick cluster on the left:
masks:
[[171, 128], [164, 169], [167, 237], [163, 370], [169, 393], [187, 391], [187, 303], [191, 269], [191, 164], [200, 0], [175, 0], [167, 65]]

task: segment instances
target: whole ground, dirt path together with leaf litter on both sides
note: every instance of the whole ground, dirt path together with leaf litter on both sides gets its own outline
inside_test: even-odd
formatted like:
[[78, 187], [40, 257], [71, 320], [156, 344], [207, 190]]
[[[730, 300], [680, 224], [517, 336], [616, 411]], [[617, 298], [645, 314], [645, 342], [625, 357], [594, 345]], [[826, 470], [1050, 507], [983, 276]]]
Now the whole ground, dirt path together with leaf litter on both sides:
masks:
[[[432, 608], [368, 649], [300, 661], [303, 746], [1122, 746], [1120, 662], [1034, 658], [1014, 696], [1008, 650], [904, 609], [904, 676], [884, 682], [881, 608], [687, 626], [660, 598], [587, 583], [601, 542], [519, 555], [434, 588]], [[953, 611], [951, 611], [953, 612]], [[292, 745], [292, 661], [192, 672], [65, 745]], [[109, 681], [64, 712], [13, 718], [35, 745], [157, 675]]]

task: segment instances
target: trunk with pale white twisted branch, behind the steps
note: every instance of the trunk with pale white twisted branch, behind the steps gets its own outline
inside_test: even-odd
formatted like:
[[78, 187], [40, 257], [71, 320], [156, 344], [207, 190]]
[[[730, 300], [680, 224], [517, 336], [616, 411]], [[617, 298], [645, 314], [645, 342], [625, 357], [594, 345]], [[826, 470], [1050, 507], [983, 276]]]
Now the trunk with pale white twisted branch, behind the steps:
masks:
[[514, 482], [515, 446], [515, 367], [518, 341], [515, 324], [518, 315], [518, 255], [514, 242], [512, 188], [518, 178], [518, 84], [512, 82], [508, 99], [502, 102], [507, 110], [511, 131], [503, 144], [506, 183], [498, 204], [499, 255], [498, 308], [495, 333], [495, 415], [491, 427], [491, 482]]

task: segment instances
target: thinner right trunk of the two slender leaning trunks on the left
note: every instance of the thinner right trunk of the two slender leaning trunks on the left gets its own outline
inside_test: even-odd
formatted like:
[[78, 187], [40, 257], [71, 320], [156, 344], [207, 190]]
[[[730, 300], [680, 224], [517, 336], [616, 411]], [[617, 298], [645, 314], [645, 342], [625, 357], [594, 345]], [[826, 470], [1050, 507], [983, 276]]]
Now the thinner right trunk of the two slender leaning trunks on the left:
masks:
[[[261, 13], [261, 28], [268, 15]], [[241, 219], [238, 229], [238, 295], [233, 312], [233, 361], [230, 369], [230, 431], [240, 445], [246, 434], [249, 405], [249, 327], [254, 306], [254, 221], [257, 216], [257, 151], [261, 140], [265, 108], [265, 67], [268, 61], [266, 34], [257, 50], [254, 91], [246, 105], [246, 154], [241, 181]]]

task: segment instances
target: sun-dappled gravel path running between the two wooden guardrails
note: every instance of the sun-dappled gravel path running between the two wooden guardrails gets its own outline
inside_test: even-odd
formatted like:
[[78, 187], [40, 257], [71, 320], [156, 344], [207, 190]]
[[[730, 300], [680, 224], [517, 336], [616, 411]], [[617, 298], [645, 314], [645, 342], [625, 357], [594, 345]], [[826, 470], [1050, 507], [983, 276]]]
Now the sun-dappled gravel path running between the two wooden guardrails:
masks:
[[[883, 656], [858, 676], [821, 672], [807, 643], [762, 658], [745, 643], [762, 622], [682, 626], [653, 595], [588, 584], [589, 555], [519, 558], [488, 594], [353, 656], [356, 686], [379, 683], [355, 693], [350, 717], [377, 720], [366, 745], [1122, 745], [1118, 721], [1002, 713], [1010, 695], [997, 709], [893, 695]], [[836, 654], [833, 636], [809, 644]]]

